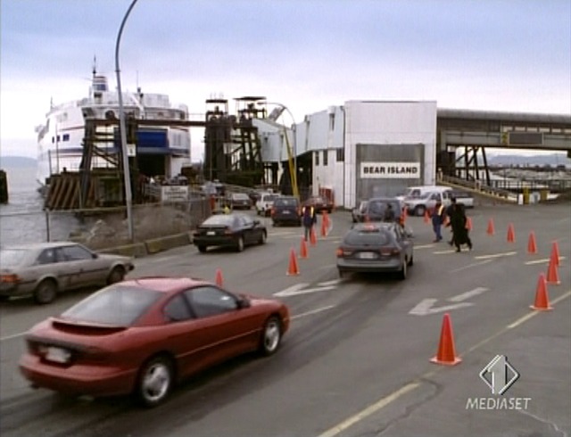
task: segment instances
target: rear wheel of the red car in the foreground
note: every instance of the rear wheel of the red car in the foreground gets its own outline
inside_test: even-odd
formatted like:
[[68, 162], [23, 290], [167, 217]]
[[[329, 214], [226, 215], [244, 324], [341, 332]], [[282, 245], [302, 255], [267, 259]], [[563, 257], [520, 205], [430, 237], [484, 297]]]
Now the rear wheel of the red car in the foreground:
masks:
[[156, 407], [167, 398], [172, 386], [172, 367], [166, 357], [147, 361], [141, 368], [137, 394], [145, 407]]

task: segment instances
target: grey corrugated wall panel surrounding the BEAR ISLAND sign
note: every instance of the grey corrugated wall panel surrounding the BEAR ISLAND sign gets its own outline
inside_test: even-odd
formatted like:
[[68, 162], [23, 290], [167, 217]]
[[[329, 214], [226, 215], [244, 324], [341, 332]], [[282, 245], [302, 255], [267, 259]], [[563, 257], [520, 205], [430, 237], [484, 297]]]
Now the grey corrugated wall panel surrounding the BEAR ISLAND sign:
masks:
[[[424, 180], [424, 144], [356, 144], [357, 145], [357, 199], [370, 197], [395, 196], [404, 193], [407, 186], [423, 185]], [[410, 162], [419, 164], [418, 175], [398, 177], [395, 175], [378, 175], [378, 177], [361, 177], [361, 163]], [[415, 177], [412, 177], [415, 176]]]

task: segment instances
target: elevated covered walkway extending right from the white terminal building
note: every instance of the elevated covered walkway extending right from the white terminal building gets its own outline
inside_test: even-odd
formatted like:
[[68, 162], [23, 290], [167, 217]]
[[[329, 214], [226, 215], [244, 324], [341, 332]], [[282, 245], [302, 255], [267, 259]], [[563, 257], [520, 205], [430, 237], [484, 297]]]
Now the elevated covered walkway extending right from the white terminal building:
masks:
[[461, 174], [474, 181], [484, 174], [487, 186], [487, 149], [567, 152], [571, 158], [571, 115], [438, 109], [436, 132], [437, 166], [443, 176]]

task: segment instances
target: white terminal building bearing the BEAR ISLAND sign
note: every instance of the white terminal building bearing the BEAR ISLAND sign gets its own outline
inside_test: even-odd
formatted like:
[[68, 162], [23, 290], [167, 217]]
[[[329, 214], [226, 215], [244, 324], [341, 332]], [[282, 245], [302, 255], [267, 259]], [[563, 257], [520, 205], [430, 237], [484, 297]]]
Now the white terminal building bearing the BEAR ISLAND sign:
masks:
[[[309, 173], [310, 194], [327, 194], [345, 208], [401, 194], [407, 186], [433, 185], [436, 112], [435, 101], [348, 101], [306, 115], [287, 130], [298, 178]], [[262, 161], [286, 161], [281, 125], [255, 123]]]

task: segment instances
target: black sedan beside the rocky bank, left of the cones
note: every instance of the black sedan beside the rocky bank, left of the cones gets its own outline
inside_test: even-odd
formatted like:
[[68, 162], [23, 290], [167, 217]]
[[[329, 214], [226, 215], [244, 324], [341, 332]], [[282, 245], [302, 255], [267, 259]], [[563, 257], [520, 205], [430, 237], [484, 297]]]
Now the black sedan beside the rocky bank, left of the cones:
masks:
[[268, 230], [260, 220], [252, 219], [243, 212], [217, 214], [205, 219], [193, 234], [193, 243], [198, 251], [205, 252], [211, 246], [234, 247], [244, 251], [245, 246], [264, 244]]

